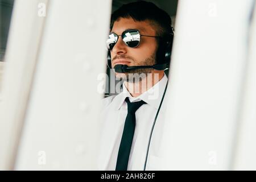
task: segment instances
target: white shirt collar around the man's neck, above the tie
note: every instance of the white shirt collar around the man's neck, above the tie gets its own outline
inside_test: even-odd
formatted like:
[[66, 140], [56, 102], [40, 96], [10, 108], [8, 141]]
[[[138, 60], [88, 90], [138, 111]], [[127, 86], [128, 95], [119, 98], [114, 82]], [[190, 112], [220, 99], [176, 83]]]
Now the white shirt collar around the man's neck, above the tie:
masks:
[[168, 81], [168, 78], [166, 74], [164, 74], [163, 78], [159, 82], [157, 82], [154, 86], [152, 86], [150, 89], [148, 89], [146, 92], [142, 93], [138, 97], [131, 96], [125, 84], [123, 83], [122, 92], [116, 96], [116, 99], [118, 101], [116, 110], [120, 109], [120, 107], [123, 105], [123, 102], [125, 102], [126, 97], [129, 97], [129, 100], [131, 102], [143, 100], [144, 102], [151, 105], [155, 109], [158, 109], [160, 102], [162, 100], [162, 96], [163, 96], [167, 81]]

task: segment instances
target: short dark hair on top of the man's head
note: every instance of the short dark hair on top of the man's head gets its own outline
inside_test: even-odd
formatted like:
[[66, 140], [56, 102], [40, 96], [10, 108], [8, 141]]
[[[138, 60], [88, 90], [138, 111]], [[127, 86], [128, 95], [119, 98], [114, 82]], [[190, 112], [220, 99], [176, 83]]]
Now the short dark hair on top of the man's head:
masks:
[[170, 16], [152, 2], [137, 1], [122, 5], [111, 16], [110, 30], [119, 18], [133, 18], [138, 22], [150, 20], [158, 28], [156, 36], [164, 37], [172, 32]]

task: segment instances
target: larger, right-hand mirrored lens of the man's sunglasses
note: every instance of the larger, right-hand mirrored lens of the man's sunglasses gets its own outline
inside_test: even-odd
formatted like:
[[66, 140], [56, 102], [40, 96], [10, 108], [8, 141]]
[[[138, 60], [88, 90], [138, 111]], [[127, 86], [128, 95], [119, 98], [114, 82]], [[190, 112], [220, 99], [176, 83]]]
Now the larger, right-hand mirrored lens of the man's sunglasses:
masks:
[[122, 34], [123, 42], [129, 47], [136, 47], [139, 45], [141, 35], [138, 30], [128, 30]]

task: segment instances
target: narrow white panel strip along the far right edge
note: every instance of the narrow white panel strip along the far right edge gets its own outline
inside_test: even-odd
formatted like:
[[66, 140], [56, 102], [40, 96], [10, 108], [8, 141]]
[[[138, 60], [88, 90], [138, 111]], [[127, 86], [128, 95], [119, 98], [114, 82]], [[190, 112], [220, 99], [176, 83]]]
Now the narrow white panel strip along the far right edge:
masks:
[[237, 155], [234, 163], [234, 169], [237, 170], [256, 170], [256, 7], [250, 33], [245, 94], [238, 125]]

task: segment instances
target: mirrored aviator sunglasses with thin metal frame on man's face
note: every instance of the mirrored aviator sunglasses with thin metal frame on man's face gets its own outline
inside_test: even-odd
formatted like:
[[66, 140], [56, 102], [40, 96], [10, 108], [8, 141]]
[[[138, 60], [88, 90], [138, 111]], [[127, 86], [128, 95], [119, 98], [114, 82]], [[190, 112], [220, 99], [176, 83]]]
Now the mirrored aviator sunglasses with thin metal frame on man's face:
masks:
[[129, 46], [132, 48], [139, 46], [139, 43], [141, 42], [141, 36], [148, 36], [152, 38], [159, 37], [159, 36], [141, 35], [139, 31], [135, 29], [125, 30], [122, 32], [122, 35], [117, 35], [114, 32], [110, 32], [109, 38], [106, 41], [106, 46], [110, 51], [113, 49], [113, 47], [117, 43], [119, 36], [122, 37], [122, 40], [126, 44], [126, 46]]

